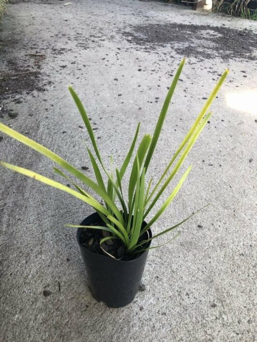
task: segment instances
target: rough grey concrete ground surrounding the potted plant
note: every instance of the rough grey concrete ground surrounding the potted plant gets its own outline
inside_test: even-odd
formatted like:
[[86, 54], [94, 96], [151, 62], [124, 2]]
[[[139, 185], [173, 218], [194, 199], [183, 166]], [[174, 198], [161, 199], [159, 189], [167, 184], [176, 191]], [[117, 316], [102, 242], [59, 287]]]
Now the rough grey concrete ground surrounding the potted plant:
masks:
[[[193, 171], [154, 231], [211, 205], [179, 229], [172, 244], [149, 253], [145, 291], [127, 307], [109, 309], [91, 296], [75, 231], [64, 227], [80, 223], [92, 209], [0, 169], [0, 341], [256, 341], [257, 22], [161, 2], [71, 2], [13, 0], [9, 5], [0, 32], [0, 70], [40, 74], [36, 84], [31, 80], [34, 90], [25, 82], [27, 88], [2, 96], [0, 121], [78, 168], [89, 165], [88, 138], [67, 91], [73, 84], [98, 128], [104, 160], [113, 154], [120, 165], [137, 121], [141, 134], [153, 132], [170, 74], [182, 58], [179, 48], [184, 52], [191, 45], [148, 177], [160, 175], [218, 74], [226, 67], [231, 72], [183, 167], [193, 163]], [[177, 24], [188, 42], [180, 43], [180, 35], [173, 41], [175, 30], [163, 30], [170, 44], [128, 41], [133, 26], [152, 30], [154, 24]], [[194, 35], [193, 25], [204, 26], [201, 35]], [[231, 33], [224, 45], [211, 41], [214, 26]], [[238, 58], [234, 30], [244, 36], [243, 51], [252, 34], [248, 55]], [[221, 50], [230, 56], [220, 58]], [[23, 80], [18, 77], [16, 86]], [[245, 92], [250, 97], [238, 103]], [[46, 158], [0, 137], [1, 160], [53, 175]], [[93, 177], [91, 168], [85, 172]], [[45, 297], [43, 291], [51, 294]]]

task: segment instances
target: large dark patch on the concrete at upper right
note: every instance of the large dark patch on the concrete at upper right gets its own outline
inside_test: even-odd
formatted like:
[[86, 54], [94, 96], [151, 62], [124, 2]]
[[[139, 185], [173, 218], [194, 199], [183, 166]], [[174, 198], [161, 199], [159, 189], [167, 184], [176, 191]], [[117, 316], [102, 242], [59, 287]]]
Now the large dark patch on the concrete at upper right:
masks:
[[129, 29], [119, 33], [128, 43], [145, 50], [170, 46], [171, 52], [200, 60], [257, 58], [257, 35], [251, 30], [177, 23], [135, 25]]

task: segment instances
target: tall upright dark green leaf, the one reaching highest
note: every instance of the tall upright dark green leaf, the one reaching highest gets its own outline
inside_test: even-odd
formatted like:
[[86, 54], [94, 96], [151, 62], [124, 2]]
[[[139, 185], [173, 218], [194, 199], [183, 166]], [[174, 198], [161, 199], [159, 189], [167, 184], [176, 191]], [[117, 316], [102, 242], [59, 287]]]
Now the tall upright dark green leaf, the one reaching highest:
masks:
[[177, 86], [177, 81], [179, 79], [179, 76], [182, 72], [182, 69], [184, 67], [184, 64], [185, 64], [185, 61], [186, 59], [182, 59], [182, 61], [180, 62], [179, 64], [179, 67], [177, 69], [177, 72], [174, 76], [174, 79], [172, 81], [172, 84], [170, 86], [170, 89], [168, 91], [168, 94], [166, 96], [166, 99], [164, 101], [164, 104], [162, 106], [162, 109], [161, 109], [161, 114], [159, 116], [159, 119], [157, 121], [157, 124], [156, 124], [156, 127], [155, 127], [155, 131], [154, 131], [154, 134], [153, 134], [153, 138], [152, 138], [152, 141], [151, 141], [151, 145], [149, 147], [149, 150], [147, 152], [147, 156], [145, 158], [145, 164], [144, 164], [144, 167], [145, 167], [145, 172], [147, 171], [147, 168], [150, 164], [150, 161], [152, 159], [152, 155], [153, 155], [153, 152], [155, 150], [155, 147], [156, 147], [156, 144], [157, 144], [157, 141], [159, 139], [159, 135], [161, 133], [161, 128], [162, 128], [162, 125], [163, 125], [163, 122], [164, 122], [164, 119], [166, 117], [166, 114], [167, 114], [167, 110], [169, 108], [169, 104], [170, 104], [170, 101], [171, 101], [171, 98], [172, 98], [172, 95], [174, 93], [174, 90]]

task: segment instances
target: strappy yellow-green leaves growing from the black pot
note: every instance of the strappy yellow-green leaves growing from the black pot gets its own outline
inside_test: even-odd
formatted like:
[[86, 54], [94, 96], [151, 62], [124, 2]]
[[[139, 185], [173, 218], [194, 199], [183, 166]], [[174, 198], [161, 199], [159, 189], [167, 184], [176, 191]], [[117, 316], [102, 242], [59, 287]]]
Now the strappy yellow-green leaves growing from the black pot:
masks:
[[[58, 175], [64, 177], [65, 179], [68, 179], [69, 182], [73, 184], [74, 190], [55, 180], [46, 178], [28, 169], [8, 164], [5, 162], [0, 162], [0, 165], [7, 167], [13, 171], [19, 172], [28, 177], [34, 178], [40, 182], [46, 183], [49, 186], [52, 186], [59, 190], [63, 190], [66, 193], [69, 193], [79, 198], [83, 202], [93, 207], [104, 223], [102, 226], [68, 226], [105, 230], [109, 233], [109, 235], [107, 237], [103, 237], [100, 240], [100, 244], [102, 244], [104, 241], [108, 239], [120, 239], [125, 246], [127, 254], [144, 251], [144, 246], [147, 245], [148, 242], [150, 242], [150, 240], [158, 238], [159, 236], [170, 232], [171, 230], [175, 229], [177, 226], [184, 223], [192, 216], [191, 215], [190, 217], [184, 219], [183, 221], [177, 223], [172, 227], [164, 229], [160, 233], [154, 235], [152, 238], [148, 237], [148, 239], [142, 241], [145, 232], [147, 232], [147, 230], [152, 226], [152, 224], [155, 223], [159, 219], [159, 217], [164, 213], [164, 211], [169, 207], [169, 205], [172, 203], [173, 199], [177, 195], [179, 189], [181, 188], [183, 182], [189, 175], [192, 165], [190, 165], [187, 168], [187, 170], [185, 171], [181, 179], [178, 181], [173, 191], [162, 202], [161, 208], [156, 210], [155, 213], [151, 215], [151, 219], [149, 221], [147, 220], [148, 223], [144, 226], [144, 221], [146, 220], [147, 216], [149, 214], [152, 214], [152, 210], [156, 207], [157, 201], [160, 199], [161, 195], [164, 193], [165, 189], [168, 187], [171, 180], [176, 176], [178, 170], [184, 163], [188, 153], [190, 152], [194, 143], [196, 142], [199, 134], [209, 121], [211, 117], [211, 113], [208, 112], [209, 106], [215, 99], [217, 92], [223, 84], [228, 73], [228, 71], [226, 70], [224, 74], [221, 76], [216, 87], [213, 89], [204, 107], [200, 111], [200, 114], [195, 119], [193, 126], [190, 128], [182, 143], [179, 145], [177, 151], [171, 158], [169, 164], [164, 169], [161, 178], [153, 182], [155, 185], [152, 187], [153, 178], [151, 178], [149, 183], [146, 184], [145, 175], [148, 171], [149, 164], [152, 160], [152, 156], [161, 133], [161, 128], [163, 126], [164, 119], [166, 117], [167, 110], [172, 95], [177, 86], [177, 82], [182, 72], [184, 63], [185, 59], [181, 61], [177, 73], [174, 76], [173, 82], [162, 106], [159, 119], [157, 120], [153, 136], [151, 136], [150, 134], [145, 134], [141, 142], [139, 143], [138, 147], [136, 148], [136, 142], [140, 127], [140, 124], [138, 124], [134, 138], [131, 143], [131, 147], [128, 150], [127, 156], [125, 157], [121, 167], [115, 168], [115, 172], [112, 171], [112, 165], [109, 169], [107, 169], [107, 167], [104, 165], [100, 155], [100, 151], [96, 144], [94, 131], [91, 127], [87, 113], [82, 103], [80, 102], [80, 99], [76, 92], [71, 87], [69, 87], [70, 93], [85, 123], [88, 135], [90, 137], [90, 141], [94, 149], [94, 153], [92, 153], [91, 149], [87, 147], [87, 152], [91, 160], [96, 181], [88, 178], [85, 174], [80, 172], [74, 166], [66, 162], [63, 158], [53, 153], [49, 149], [34, 142], [30, 138], [17, 133], [10, 127], [7, 127], [0, 123], [1, 132], [8, 134], [9, 136], [31, 147], [32, 149], [35, 149], [39, 153], [45, 155], [50, 160], [61, 166], [69, 174], [75, 176], [75, 178], [78, 178], [84, 184], [84, 186], [90, 188], [96, 195], [98, 195], [102, 199], [102, 202], [94, 196], [92, 196], [90, 193], [88, 193], [87, 190], [82, 189], [80, 185], [75, 183], [74, 180], [70, 179], [69, 176], [64, 174], [64, 172], [57, 167], [54, 167], [54, 171]], [[122, 182], [122, 178], [125, 172], [128, 170], [128, 165], [133, 154], [134, 157], [132, 159], [131, 164], [128, 188], [127, 191], [124, 191], [125, 189], [124, 184]], [[113, 164], [113, 161], [111, 164]], [[173, 166], [172, 170], [171, 166]], [[107, 184], [105, 184], [104, 178], [107, 178]], [[155, 247], [156, 246], [151, 248]]]

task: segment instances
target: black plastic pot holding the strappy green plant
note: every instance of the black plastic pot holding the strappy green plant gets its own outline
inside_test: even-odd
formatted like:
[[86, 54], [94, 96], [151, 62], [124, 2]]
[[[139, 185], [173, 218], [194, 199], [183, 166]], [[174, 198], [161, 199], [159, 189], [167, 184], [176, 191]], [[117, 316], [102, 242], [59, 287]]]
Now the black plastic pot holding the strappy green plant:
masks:
[[[98, 221], [97, 221], [98, 220]], [[88, 216], [80, 225], [99, 222], [97, 213]], [[146, 223], [144, 222], [144, 225]], [[103, 301], [110, 308], [128, 305], [135, 297], [145, 268], [148, 250], [133, 260], [116, 260], [110, 256], [93, 253], [81, 245], [84, 228], [78, 228], [77, 240], [86, 267], [89, 287], [97, 301]], [[151, 230], [148, 230], [150, 238]], [[147, 247], [150, 246], [148, 243]]]

